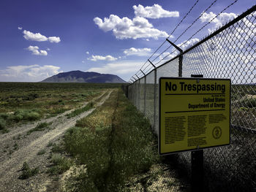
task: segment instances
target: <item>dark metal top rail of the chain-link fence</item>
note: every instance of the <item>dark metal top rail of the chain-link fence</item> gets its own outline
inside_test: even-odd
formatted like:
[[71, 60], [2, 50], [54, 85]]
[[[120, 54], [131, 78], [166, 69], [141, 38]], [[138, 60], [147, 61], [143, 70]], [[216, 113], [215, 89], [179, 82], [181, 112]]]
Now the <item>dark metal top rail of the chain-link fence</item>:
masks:
[[[146, 77], [148, 74], [150, 74], [151, 72], [153, 72], [154, 70], [159, 69], [161, 66], [164, 66], [165, 64], [179, 58], [181, 55], [184, 55], [185, 53], [189, 52], [189, 50], [194, 49], [195, 47], [203, 44], [203, 42], [206, 42], [208, 39], [211, 39], [212, 37], [216, 36], [217, 34], [219, 34], [220, 32], [224, 31], [226, 28], [233, 26], [233, 24], [237, 23], [239, 20], [245, 18], [247, 15], [251, 14], [252, 12], [256, 11], [256, 4], [254, 6], [252, 6], [250, 9], [247, 9], [246, 12], [243, 12], [241, 15], [238, 15], [238, 17], [236, 17], [235, 19], [231, 20], [229, 23], [225, 24], [225, 26], [222, 26], [221, 28], [217, 29], [217, 31], [214, 31], [212, 34], [209, 34], [207, 37], [205, 37], [204, 39], [200, 40], [200, 42], [197, 42], [195, 45], [192, 45], [192, 47], [189, 47], [187, 50], [184, 50], [182, 53], [179, 53], [178, 55], [176, 55], [174, 58], [171, 58], [168, 61], [165, 61], [165, 63], [155, 67], [154, 69], [152, 69], [150, 72], [148, 72], [145, 76]], [[140, 77], [138, 80], [142, 79], [143, 77]], [[138, 80], [135, 80], [138, 81]], [[134, 82], [132, 82], [133, 84]], [[131, 84], [131, 85], [132, 85]]]

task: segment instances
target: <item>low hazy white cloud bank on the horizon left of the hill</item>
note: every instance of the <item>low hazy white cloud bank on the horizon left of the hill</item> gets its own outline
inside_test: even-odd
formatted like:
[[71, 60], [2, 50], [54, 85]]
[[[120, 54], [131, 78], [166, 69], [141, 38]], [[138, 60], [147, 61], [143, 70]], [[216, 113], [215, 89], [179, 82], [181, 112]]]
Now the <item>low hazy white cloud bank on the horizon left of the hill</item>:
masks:
[[41, 81], [54, 74], [62, 72], [59, 66], [30, 65], [30, 66], [7, 66], [0, 70], [1, 81]]

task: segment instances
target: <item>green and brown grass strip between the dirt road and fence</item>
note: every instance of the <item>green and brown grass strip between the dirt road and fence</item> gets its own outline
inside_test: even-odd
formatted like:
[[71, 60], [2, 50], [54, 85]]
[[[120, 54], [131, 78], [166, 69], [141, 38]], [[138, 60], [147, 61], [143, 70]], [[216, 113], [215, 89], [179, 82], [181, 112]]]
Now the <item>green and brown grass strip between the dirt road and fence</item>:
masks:
[[64, 136], [66, 151], [78, 166], [86, 165], [86, 173], [75, 178], [80, 181], [76, 190], [121, 190], [130, 176], [148, 171], [157, 161], [154, 141], [148, 120], [122, 91], [113, 91], [101, 107]]

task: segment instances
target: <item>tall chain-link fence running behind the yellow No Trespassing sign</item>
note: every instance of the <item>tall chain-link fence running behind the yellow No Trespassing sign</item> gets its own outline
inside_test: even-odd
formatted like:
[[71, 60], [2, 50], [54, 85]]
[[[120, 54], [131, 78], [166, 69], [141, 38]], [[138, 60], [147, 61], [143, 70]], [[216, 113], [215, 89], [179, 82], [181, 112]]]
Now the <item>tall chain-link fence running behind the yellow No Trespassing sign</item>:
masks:
[[[204, 150], [209, 191], [256, 191], [256, 7], [128, 86], [128, 98], [159, 130], [159, 77], [230, 78], [230, 145]], [[143, 72], [144, 74], [144, 72]], [[191, 174], [190, 152], [178, 153]]]

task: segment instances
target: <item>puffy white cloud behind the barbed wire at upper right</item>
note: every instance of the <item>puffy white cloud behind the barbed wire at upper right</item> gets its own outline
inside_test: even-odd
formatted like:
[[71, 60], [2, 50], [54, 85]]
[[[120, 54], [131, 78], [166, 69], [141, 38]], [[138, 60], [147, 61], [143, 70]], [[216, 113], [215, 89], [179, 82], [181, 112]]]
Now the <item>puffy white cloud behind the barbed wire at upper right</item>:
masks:
[[234, 18], [237, 17], [237, 15], [233, 12], [227, 13], [227, 12], [222, 12], [219, 14], [217, 18], [216, 14], [214, 12], [204, 12], [203, 15], [200, 17], [200, 21], [202, 23], [204, 22], [210, 22], [214, 23], [214, 28], [208, 28], [208, 31], [211, 33], [212, 31], [215, 31], [217, 28], [225, 25], [225, 23], [229, 22], [230, 20], [233, 20]]

